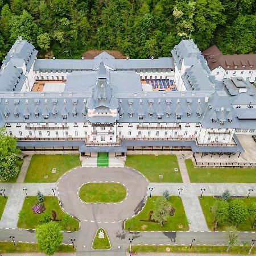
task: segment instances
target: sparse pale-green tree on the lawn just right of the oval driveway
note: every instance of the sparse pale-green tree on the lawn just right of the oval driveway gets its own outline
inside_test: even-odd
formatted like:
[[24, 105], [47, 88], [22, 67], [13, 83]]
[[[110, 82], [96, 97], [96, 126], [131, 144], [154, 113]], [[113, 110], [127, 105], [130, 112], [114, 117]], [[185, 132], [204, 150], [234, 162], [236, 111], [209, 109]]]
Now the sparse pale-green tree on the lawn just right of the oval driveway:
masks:
[[170, 216], [171, 208], [171, 203], [167, 201], [163, 196], [160, 196], [158, 199], [156, 199], [156, 207], [154, 209], [154, 213], [152, 214], [152, 218], [159, 222], [162, 228], [164, 221], [167, 221], [168, 217]]

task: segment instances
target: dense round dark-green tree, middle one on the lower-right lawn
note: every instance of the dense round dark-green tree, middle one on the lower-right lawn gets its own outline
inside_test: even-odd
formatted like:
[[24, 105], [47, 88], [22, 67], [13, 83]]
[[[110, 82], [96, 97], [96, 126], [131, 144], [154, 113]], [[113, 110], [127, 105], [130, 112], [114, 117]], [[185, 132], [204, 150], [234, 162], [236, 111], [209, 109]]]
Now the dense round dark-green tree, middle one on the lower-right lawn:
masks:
[[236, 199], [231, 201], [229, 204], [229, 217], [235, 223], [237, 227], [238, 224], [241, 224], [247, 220], [248, 212], [245, 202], [241, 199]]

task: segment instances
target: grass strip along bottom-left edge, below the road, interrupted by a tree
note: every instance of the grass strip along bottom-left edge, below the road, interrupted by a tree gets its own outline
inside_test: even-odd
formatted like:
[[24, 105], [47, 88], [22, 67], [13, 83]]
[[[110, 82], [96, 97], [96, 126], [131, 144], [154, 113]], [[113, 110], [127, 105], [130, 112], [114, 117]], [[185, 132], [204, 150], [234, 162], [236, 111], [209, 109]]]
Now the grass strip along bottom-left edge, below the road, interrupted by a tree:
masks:
[[[40, 253], [38, 245], [36, 243], [17, 243], [15, 246], [13, 242], [0, 242], [0, 253]], [[60, 245], [56, 253], [73, 253], [73, 246], [70, 245]]]

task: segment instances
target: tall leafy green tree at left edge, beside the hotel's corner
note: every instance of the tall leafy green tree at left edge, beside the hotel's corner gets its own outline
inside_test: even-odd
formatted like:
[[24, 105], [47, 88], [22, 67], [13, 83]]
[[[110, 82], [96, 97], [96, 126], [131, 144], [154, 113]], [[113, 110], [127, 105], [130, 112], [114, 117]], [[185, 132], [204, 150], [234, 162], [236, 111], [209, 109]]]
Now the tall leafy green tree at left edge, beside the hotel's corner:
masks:
[[5, 129], [0, 129], [0, 180], [9, 180], [19, 173], [17, 166], [16, 139], [7, 136]]

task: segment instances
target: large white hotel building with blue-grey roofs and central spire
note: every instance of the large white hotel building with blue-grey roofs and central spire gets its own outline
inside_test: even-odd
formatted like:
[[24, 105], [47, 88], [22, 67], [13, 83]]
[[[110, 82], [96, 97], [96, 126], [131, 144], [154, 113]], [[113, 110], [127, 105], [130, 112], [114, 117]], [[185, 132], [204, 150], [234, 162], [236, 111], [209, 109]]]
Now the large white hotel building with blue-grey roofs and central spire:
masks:
[[[216, 80], [193, 40], [159, 59], [103, 52], [43, 60], [37, 53], [19, 39], [0, 70], [0, 123], [22, 150], [236, 153], [243, 152], [236, 134], [255, 134], [254, 86], [240, 77]], [[174, 80], [177, 91], [145, 89], [141, 79]], [[33, 91], [40, 81], [43, 90]]]

